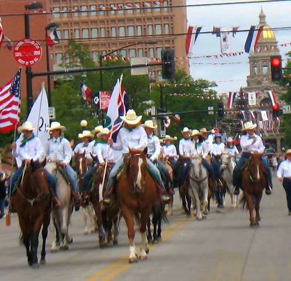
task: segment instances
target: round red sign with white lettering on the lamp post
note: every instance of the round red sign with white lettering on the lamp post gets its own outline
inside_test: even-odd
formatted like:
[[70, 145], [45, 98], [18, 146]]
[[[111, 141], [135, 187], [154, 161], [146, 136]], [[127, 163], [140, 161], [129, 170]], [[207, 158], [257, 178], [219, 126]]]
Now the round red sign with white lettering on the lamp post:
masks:
[[40, 44], [32, 39], [23, 39], [14, 47], [15, 60], [24, 66], [31, 66], [40, 61], [42, 48]]

